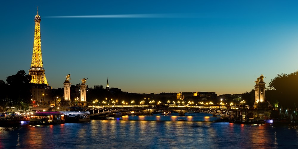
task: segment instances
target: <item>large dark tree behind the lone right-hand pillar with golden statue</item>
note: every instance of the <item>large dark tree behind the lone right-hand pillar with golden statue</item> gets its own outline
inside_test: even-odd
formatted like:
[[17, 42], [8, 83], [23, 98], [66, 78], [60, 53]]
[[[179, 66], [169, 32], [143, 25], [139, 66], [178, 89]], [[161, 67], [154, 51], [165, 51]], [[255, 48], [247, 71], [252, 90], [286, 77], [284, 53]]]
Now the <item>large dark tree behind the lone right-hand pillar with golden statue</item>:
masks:
[[269, 89], [267, 93], [284, 108], [295, 108], [298, 101], [298, 70], [288, 75], [277, 74], [269, 83]]

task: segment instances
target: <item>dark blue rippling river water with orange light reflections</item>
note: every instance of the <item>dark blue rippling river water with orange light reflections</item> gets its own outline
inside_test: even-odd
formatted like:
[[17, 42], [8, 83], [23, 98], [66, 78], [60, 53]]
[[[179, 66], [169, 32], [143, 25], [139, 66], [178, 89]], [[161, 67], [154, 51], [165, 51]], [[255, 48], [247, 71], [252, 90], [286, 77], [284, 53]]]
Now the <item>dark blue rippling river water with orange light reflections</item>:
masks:
[[212, 122], [216, 119], [220, 117], [174, 113], [0, 127], [0, 148], [298, 148], [296, 127]]

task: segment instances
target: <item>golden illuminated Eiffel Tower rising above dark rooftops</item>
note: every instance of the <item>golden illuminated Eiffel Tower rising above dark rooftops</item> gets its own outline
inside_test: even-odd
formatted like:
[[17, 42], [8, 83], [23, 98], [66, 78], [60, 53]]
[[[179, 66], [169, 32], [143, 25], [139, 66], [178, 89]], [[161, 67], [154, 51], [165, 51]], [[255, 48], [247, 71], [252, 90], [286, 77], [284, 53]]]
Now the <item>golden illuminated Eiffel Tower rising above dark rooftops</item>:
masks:
[[37, 15], [35, 15], [34, 21], [35, 21], [35, 32], [34, 32], [33, 55], [32, 55], [31, 67], [29, 69], [29, 75], [32, 77], [31, 83], [46, 84], [48, 86], [48, 82], [46, 81], [46, 75], [44, 74], [45, 70], [42, 64], [42, 57], [41, 57], [41, 40], [40, 40], [41, 18], [38, 15], [38, 7], [37, 7]]

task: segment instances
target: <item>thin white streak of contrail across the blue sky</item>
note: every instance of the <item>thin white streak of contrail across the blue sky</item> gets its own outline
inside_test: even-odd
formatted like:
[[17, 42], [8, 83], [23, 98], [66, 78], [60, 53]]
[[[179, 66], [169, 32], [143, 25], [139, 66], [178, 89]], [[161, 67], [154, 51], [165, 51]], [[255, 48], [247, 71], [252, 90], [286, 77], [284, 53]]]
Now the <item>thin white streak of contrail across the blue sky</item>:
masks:
[[125, 14], [125, 15], [71, 15], [46, 18], [197, 18], [193, 14]]

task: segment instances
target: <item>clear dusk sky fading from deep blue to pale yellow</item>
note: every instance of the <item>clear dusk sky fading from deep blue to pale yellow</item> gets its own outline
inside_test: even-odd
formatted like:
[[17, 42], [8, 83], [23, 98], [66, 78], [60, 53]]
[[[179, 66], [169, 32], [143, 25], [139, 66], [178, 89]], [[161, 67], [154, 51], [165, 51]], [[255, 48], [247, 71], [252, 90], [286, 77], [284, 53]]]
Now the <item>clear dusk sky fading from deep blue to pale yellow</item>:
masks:
[[1, 1], [0, 80], [29, 74], [37, 6], [53, 89], [242, 94], [298, 69], [298, 1]]

